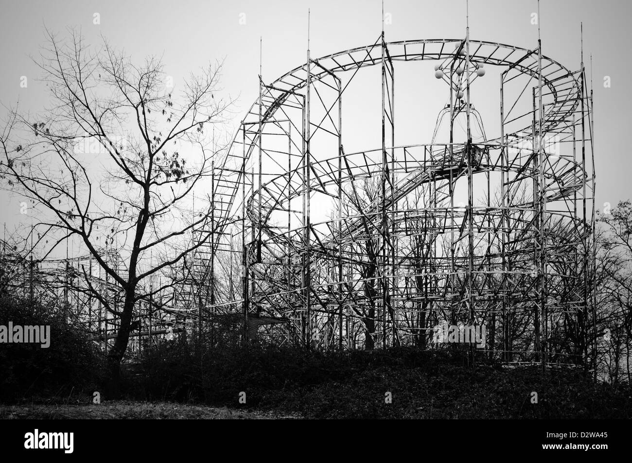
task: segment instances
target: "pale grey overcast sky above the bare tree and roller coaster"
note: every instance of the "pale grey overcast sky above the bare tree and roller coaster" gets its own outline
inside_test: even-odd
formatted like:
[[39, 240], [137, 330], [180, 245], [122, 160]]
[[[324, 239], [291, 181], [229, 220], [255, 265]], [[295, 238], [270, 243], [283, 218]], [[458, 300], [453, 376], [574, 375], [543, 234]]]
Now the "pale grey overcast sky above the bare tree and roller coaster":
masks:
[[[533, 49], [537, 46], [537, 26], [532, 24], [532, 13], [537, 8], [535, 0], [471, 0], [470, 37]], [[238, 98], [232, 121], [232, 127], [236, 128], [258, 95], [260, 38], [262, 77], [272, 82], [305, 62], [308, 9], [312, 57], [372, 44], [379, 37], [382, 27], [379, 0], [2, 0], [0, 102], [8, 106], [19, 100], [26, 111], [45, 107], [48, 101], [45, 82], [38, 80], [40, 71], [33, 63], [45, 40], [44, 27], [61, 37], [68, 27], [75, 27], [88, 43], [98, 46], [102, 35], [138, 62], [147, 56], [161, 57], [176, 87], [189, 73], [209, 62], [224, 60], [222, 93]], [[594, 82], [598, 208], [606, 202], [614, 205], [632, 198], [629, 188], [632, 157], [627, 141], [632, 125], [629, 111], [632, 40], [628, 25], [631, 10], [632, 3], [623, 0], [540, 2], [543, 52], [571, 70], [580, 68], [583, 22], [584, 61]], [[465, 0], [386, 0], [384, 13], [391, 18], [391, 23], [384, 26], [386, 40], [460, 39], [465, 36], [465, 11]], [[424, 78], [417, 78], [416, 70], [425, 73]], [[398, 101], [404, 109], [397, 114], [401, 125], [396, 145], [430, 141], [442, 104], [434, 97], [435, 88], [431, 87], [434, 84], [428, 80], [428, 75], [432, 78], [431, 72], [432, 66], [428, 64], [425, 68], [411, 66], [408, 74], [402, 74], [401, 84], [398, 83], [401, 87], [396, 90], [401, 92]], [[26, 88], [20, 85], [23, 76], [28, 80]], [[609, 88], [604, 88], [606, 76], [611, 81]], [[349, 112], [353, 109], [362, 112], [361, 97], [368, 94], [365, 90], [374, 92], [374, 103], [370, 104], [379, 104], [377, 82], [368, 78], [362, 83], [365, 87], [347, 100]], [[497, 87], [492, 81], [485, 85]], [[473, 104], [477, 104], [474, 95]], [[484, 96], [481, 90], [478, 102], [483, 102]], [[423, 116], [418, 116], [422, 113]], [[347, 133], [353, 137], [345, 140], [348, 151], [377, 148], [374, 142], [377, 126], [370, 128], [361, 118], [345, 117], [349, 121], [345, 122]], [[493, 112], [483, 117], [490, 126], [497, 125], [494, 117], [498, 116]], [[416, 127], [422, 129], [417, 133]], [[19, 198], [7, 197], [6, 192], [1, 195], [3, 222], [19, 222]]]

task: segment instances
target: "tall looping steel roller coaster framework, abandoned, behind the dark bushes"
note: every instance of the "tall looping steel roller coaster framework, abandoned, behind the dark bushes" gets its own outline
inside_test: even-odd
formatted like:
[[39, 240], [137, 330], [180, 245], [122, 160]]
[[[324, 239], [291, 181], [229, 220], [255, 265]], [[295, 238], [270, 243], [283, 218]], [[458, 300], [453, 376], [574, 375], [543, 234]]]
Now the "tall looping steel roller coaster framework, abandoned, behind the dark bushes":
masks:
[[[430, 143], [398, 146], [395, 64], [423, 60], [437, 64], [449, 104]], [[371, 66], [382, 75], [382, 145], [346, 152], [343, 94]], [[473, 124], [484, 129], [470, 90], [494, 67], [500, 136], [474, 142]], [[308, 50], [305, 64], [259, 82], [216, 163], [207, 254], [241, 252], [243, 284], [221, 311], [241, 313], [245, 327], [278, 320], [259, 323], [260, 335], [312, 348], [428, 348], [447, 322], [487, 326], [484, 351], [468, 346], [472, 359], [588, 358], [595, 174], [583, 63], [570, 71], [539, 40], [534, 50], [474, 41], [469, 28], [463, 40], [386, 42], [382, 32], [319, 59]], [[449, 139], [437, 141], [448, 116]], [[466, 203], [455, 201], [459, 188]]]

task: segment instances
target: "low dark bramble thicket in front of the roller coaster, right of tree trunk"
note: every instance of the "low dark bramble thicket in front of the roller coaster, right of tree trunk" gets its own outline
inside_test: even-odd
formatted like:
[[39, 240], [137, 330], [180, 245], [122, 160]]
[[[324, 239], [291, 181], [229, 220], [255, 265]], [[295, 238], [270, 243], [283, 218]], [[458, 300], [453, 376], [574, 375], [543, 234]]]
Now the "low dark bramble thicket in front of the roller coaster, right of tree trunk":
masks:
[[[149, 400], [299, 412], [305, 418], [630, 418], [628, 385], [581, 370], [465, 365], [459, 351], [307, 352], [234, 346], [202, 354], [178, 342], [145, 361], [128, 394]], [[246, 404], [240, 404], [240, 392]], [[392, 403], [386, 403], [390, 392]], [[537, 392], [538, 403], [532, 403]]]

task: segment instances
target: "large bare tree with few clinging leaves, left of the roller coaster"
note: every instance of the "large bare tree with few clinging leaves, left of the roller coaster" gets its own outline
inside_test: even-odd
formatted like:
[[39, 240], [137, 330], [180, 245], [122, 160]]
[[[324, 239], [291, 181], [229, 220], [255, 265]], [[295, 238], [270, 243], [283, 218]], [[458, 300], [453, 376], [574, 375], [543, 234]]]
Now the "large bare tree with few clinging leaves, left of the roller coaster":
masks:
[[[196, 198], [191, 213], [189, 198], [210, 176], [207, 128], [225, 122], [233, 101], [215, 94], [221, 63], [172, 94], [160, 59], [133, 64], [105, 39], [93, 52], [74, 31], [66, 41], [47, 32], [37, 63], [51, 101], [37, 115], [11, 112], [0, 135], [3, 174], [39, 208], [35, 227], [49, 237], [42, 255], [75, 239], [121, 288], [115, 307], [83, 268], [88, 291], [120, 321], [108, 354], [117, 395], [134, 306], [162, 290], [143, 280], [210, 239], [210, 200]], [[124, 265], [107, 262], [107, 248]]]

